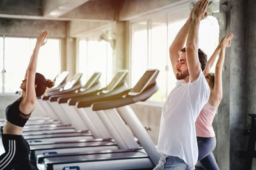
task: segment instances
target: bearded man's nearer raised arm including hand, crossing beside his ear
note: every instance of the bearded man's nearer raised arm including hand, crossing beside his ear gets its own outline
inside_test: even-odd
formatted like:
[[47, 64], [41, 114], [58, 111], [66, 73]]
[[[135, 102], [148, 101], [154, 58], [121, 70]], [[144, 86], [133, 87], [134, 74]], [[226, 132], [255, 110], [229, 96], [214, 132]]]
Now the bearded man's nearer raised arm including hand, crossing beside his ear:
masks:
[[201, 0], [195, 4], [192, 22], [189, 27], [188, 39], [186, 43], [186, 59], [190, 80], [192, 82], [198, 78], [201, 69], [198, 59], [198, 30], [200, 20], [207, 17], [205, 10], [208, 3], [208, 0]]

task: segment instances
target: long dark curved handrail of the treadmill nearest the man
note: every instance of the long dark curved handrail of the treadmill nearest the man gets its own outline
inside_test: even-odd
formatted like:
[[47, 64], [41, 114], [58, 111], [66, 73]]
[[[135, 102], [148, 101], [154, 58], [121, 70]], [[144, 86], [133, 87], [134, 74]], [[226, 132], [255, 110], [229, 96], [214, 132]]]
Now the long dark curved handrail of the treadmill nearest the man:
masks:
[[126, 106], [132, 103], [136, 103], [138, 101], [146, 101], [149, 97], [156, 93], [158, 89], [159, 87], [156, 83], [154, 83], [148, 86], [145, 90], [143, 90], [141, 94], [138, 94], [136, 96], [126, 96], [111, 101], [97, 102], [93, 103], [91, 107], [93, 111], [108, 110]]

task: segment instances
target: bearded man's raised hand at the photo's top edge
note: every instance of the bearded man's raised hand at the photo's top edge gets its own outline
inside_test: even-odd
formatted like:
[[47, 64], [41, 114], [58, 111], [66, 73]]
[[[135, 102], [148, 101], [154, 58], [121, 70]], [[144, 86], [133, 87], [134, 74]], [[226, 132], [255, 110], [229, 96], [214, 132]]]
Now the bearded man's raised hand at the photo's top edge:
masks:
[[208, 13], [205, 11], [208, 6], [209, 1], [208, 0], [199, 0], [193, 10], [192, 19], [198, 18], [199, 20], [204, 20], [204, 18], [207, 17]]

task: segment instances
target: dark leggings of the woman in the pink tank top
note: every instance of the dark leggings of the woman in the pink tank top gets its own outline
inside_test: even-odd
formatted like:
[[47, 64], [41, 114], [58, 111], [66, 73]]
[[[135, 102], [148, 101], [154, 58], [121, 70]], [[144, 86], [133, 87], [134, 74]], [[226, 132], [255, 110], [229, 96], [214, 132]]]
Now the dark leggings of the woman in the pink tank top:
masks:
[[196, 137], [198, 145], [198, 161], [206, 170], [219, 170], [212, 151], [216, 146], [216, 138]]

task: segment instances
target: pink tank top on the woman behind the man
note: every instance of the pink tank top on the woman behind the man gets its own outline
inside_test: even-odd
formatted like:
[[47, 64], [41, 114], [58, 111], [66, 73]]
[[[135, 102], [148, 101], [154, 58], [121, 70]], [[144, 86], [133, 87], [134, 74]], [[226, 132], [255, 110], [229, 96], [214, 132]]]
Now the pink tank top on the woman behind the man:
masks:
[[216, 114], [217, 108], [209, 103], [204, 105], [196, 119], [196, 136], [203, 138], [211, 138], [215, 136], [212, 128], [213, 118]]

